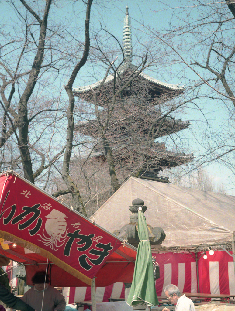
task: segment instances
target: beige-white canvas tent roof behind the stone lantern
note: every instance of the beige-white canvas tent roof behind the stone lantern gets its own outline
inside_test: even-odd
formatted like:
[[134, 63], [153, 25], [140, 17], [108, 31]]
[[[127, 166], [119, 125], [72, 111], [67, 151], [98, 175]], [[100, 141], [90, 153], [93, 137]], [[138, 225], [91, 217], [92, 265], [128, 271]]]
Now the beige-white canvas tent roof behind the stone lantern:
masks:
[[131, 177], [91, 217], [113, 232], [129, 223], [132, 201], [147, 206], [148, 225], [162, 227], [164, 247], [223, 244], [235, 230], [235, 197]]

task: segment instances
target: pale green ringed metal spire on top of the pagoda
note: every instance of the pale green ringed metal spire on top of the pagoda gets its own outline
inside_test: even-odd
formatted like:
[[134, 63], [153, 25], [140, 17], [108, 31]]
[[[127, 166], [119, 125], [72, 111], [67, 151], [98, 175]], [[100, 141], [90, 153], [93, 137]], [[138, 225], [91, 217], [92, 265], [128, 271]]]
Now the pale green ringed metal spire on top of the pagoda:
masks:
[[132, 41], [131, 41], [131, 25], [130, 17], [128, 13], [128, 6], [126, 6], [126, 16], [124, 17], [124, 27], [123, 27], [123, 50], [125, 61], [132, 61]]

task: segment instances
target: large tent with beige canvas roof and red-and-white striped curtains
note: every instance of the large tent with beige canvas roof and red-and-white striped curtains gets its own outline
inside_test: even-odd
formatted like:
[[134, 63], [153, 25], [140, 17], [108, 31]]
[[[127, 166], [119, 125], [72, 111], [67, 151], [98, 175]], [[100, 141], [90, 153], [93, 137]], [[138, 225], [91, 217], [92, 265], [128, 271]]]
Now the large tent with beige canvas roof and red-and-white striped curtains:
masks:
[[[217, 250], [211, 256], [206, 246], [219, 243], [225, 248], [228, 244], [231, 247], [235, 230], [234, 196], [131, 177], [92, 219], [111, 232], [120, 230], [129, 223], [129, 205], [136, 198], [142, 199], [147, 206], [144, 213], [147, 224], [162, 227], [166, 233], [162, 246], [169, 251], [159, 253], [161, 248], [157, 248], [152, 252], [160, 266], [160, 278], [155, 282], [157, 296], [165, 294], [164, 288], [168, 284], [177, 285], [181, 292], [198, 291], [195, 253], [184, 253], [180, 246], [186, 246], [185, 249], [201, 246], [207, 254], [204, 259], [203, 251], [198, 253], [200, 292], [235, 294], [232, 251], [229, 250], [229, 255]], [[114, 212], [115, 218], [111, 216]], [[110, 294], [114, 298], [124, 298], [122, 285], [114, 284], [112, 292], [110, 287], [97, 288], [100, 301], [107, 301]], [[90, 300], [89, 295], [89, 288], [72, 289], [70, 301], [73, 298]]]

